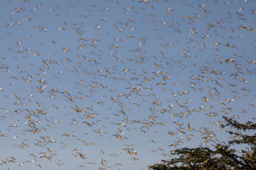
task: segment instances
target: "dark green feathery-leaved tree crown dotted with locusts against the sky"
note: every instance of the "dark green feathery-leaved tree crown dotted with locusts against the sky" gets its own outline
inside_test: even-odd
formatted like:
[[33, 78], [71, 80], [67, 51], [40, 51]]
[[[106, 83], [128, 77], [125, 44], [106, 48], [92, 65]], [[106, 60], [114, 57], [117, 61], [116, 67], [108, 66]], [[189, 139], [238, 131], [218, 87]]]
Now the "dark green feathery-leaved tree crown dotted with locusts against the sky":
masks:
[[[174, 158], [162, 160], [161, 163], [148, 166], [152, 170], [170, 169], [256, 169], [256, 134], [250, 136], [245, 131], [256, 130], [256, 123], [250, 121], [239, 123], [234, 118], [223, 116], [225, 123], [221, 128], [229, 127], [227, 132], [232, 136], [228, 145], [216, 144], [214, 150], [208, 147], [181, 148], [174, 150]], [[230, 129], [236, 129], [232, 131]], [[243, 132], [243, 133], [242, 133]], [[241, 151], [230, 149], [231, 145], [247, 144]]]

